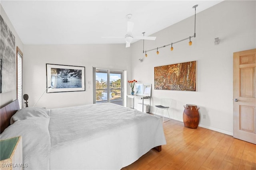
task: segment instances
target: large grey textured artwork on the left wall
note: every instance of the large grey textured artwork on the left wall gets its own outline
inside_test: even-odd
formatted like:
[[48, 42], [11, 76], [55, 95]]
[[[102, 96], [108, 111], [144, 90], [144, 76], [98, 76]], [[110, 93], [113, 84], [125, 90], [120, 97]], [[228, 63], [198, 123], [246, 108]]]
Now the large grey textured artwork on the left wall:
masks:
[[16, 89], [15, 37], [0, 16], [0, 93]]

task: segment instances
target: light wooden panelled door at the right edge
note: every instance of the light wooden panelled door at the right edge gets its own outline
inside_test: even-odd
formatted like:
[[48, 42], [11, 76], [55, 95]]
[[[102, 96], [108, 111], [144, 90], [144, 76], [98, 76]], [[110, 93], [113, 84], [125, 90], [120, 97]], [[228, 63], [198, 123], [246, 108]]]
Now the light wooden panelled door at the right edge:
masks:
[[234, 53], [234, 138], [256, 144], [256, 49]]

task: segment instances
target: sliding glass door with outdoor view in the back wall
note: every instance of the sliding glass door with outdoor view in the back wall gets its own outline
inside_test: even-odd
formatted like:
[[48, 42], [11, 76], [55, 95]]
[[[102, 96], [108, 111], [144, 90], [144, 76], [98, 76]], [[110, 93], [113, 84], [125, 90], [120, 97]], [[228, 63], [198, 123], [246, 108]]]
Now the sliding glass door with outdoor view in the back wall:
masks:
[[94, 103], [110, 102], [123, 106], [122, 71], [94, 68]]

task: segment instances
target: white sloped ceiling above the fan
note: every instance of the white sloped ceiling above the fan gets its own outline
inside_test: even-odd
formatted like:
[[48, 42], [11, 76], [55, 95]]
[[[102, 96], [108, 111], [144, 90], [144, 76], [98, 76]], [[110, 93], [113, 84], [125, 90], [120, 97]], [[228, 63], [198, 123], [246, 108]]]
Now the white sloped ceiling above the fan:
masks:
[[[132, 14], [133, 35], [156, 33], [221, 0], [1, 0], [24, 44], [125, 43], [127, 14]], [[156, 37], [157, 39], [157, 37]]]

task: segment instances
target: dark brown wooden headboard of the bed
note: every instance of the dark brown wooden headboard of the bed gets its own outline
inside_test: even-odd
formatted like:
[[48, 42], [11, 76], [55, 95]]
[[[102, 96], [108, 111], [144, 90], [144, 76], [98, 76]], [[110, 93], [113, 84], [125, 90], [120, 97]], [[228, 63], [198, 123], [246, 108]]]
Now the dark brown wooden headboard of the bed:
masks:
[[10, 126], [10, 119], [20, 109], [18, 99], [0, 109], [1, 133]]

